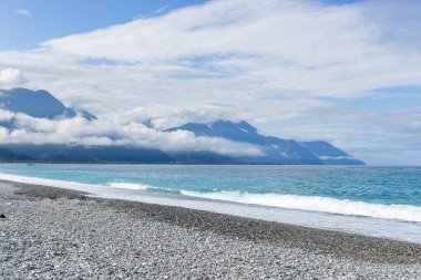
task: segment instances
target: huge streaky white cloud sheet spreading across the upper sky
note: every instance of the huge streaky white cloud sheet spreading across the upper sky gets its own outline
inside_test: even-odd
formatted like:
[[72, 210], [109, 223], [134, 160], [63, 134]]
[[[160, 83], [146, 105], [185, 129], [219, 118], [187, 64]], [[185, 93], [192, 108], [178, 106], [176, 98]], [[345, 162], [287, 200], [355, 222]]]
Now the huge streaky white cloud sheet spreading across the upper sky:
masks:
[[[420, 84], [418, 25], [407, 28], [396, 18], [403, 18], [408, 6], [421, 11], [421, 4], [403, 2], [212, 1], [50, 40], [37, 51], [3, 53], [0, 64], [24, 69], [34, 87], [71, 103], [96, 102], [90, 105], [94, 110], [115, 100], [123, 107], [182, 110], [237, 107], [270, 96], [361, 96]], [[125, 63], [83, 63], [92, 59]], [[257, 104], [256, 111], [264, 115], [265, 106]]]

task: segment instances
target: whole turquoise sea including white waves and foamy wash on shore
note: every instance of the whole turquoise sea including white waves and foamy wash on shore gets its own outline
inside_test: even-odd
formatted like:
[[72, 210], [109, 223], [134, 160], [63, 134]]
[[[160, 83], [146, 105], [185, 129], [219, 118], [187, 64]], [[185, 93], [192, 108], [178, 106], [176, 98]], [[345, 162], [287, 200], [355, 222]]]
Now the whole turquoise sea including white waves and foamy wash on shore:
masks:
[[421, 243], [421, 167], [1, 164], [0, 179]]

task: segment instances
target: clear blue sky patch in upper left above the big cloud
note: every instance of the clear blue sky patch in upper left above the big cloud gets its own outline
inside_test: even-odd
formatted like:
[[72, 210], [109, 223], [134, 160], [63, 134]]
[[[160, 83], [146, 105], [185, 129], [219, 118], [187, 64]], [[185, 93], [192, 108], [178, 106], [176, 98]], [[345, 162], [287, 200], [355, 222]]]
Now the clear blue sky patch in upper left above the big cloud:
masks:
[[51, 38], [124, 23], [137, 17], [153, 17], [202, 2], [204, 0], [2, 0], [0, 34], [8, 40], [0, 41], [0, 50], [34, 49]]

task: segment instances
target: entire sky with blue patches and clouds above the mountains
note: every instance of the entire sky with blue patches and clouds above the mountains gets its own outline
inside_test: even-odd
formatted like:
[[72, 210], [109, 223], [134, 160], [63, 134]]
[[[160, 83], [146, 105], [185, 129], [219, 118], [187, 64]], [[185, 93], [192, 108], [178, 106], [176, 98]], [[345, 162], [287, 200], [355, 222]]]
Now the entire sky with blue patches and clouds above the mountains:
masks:
[[246, 120], [420, 165], [419, 14], [410, 0], [2, 0], [0, 87], [157, 128]]

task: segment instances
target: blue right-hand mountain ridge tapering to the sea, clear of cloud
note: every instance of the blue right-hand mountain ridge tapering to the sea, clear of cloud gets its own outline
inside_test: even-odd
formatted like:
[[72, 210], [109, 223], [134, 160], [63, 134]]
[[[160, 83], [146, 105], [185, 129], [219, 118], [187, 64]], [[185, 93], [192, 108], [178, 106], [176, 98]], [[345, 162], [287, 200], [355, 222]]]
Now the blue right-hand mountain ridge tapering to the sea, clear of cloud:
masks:
[[208, 124], [187, 123], [166, 132], [188, 131], [196, 136], [220, 137], [238, 143], [251, 144], [264, 156], [238, 156], [233, 160], [242, 164], [315, 164], [315, 165], [363, 165], [359, 159], [327, 142], [297, 142], [264, 136], [249, 123], [218, 120]]

